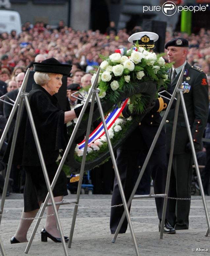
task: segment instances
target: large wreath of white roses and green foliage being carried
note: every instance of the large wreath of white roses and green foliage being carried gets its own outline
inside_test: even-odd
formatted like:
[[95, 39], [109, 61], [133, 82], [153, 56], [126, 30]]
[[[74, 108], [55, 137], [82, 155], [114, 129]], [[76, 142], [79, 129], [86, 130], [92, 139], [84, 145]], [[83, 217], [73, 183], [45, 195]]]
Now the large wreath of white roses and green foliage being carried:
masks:
[[[139, 114], [144, 112], [145, 107], [158, 96], [157, 92], [159, 88], [167, 87], [167, 70], [170, 64], [165, 64], [163, 55], [164, 54], [156, 55], [142, 47], [133, 47], [130, 50], [126, 48], [118, 49], [109, 57], [100, 56], [103, 61], [100, 65], [97, 89], [100, 90], [99, 97], [101, 101], [104, 102], [105, 112], [112, 112], [116, 108], [120, 108], [123, 100], [125, 100], [125, 96], [129, 97], [127, 103], [129, 104], [128, 107], [131, 113], [135, 112]], [[96, 74], [92, 77], [92, 83], [95, 77]], [[146, 88], [146, 90], [150, 90], [152, 93], [149, 95], [142, 93], [141, 88], [144, 88], [144, 91]], [[72, 134], [76, 121], [77, 119], [74, 119], [67, 124], [69, 136]], [[138, 115], [133, 118], [118, 117], [115, 119], [108, 130], [111, 143], [112, 145], [115, 144], [114, 149], [119, 146], [122, 138], [125, 138], [126, 135], [128, 136], [132, 131], [131, 128], [134, 127], [134, 124], [137, 124], [138, 121]], [[80, 148], [78, 144], [74, 144], [73, 147], [74, 159], [72, 158], [69, 161], [70, 168], [69, 166], [64, 166], [68, 174], [78, 172], [83, 156], [83, 149]], [[105, 135], [98, 137], [88, 144], [86, 170], [92, 169], [99, 164], [100, 161], [95, 161], [95, 159], [99, 158], [100, 154], [104, 156], [101, 162], [109, 156]], [[59, 159], [61, 156], [62, 151]], [[74, 163], [77, 163], [76, 167]]]

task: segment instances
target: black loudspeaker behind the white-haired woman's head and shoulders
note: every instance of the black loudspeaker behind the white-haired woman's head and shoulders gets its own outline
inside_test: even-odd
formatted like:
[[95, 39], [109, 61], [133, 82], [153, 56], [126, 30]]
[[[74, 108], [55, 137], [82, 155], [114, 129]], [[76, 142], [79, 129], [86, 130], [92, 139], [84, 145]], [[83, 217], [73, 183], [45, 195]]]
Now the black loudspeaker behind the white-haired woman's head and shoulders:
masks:
[[[27, 85], [26, 85], [26, 89], [25, 89], [26, 92], [29, 92], [32, 89], [32, 84], [35, 83], [34, 73], [35, 73], [35, 71], [33, 71], [33, 70], [31, 70], [29, 72], [28, 81], [27, 81]], [[67, 89], [67, 76], [63, 76], [62, 85], [61, 85], [58, 93], [55, 94], [55, 96], [58, 99], [58, 103], [60, 105], [60, 108], [63, 111], [66, 111], [66, 107], [67, 107], [67, 105], [66, 105], [66, 97], [67, 97], [66, 89]]]

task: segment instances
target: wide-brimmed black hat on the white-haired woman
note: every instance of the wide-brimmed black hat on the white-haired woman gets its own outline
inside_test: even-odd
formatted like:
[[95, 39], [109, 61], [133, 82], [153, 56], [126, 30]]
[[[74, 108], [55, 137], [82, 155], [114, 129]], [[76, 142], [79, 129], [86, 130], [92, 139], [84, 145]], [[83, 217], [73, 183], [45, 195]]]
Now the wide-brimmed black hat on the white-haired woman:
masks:
[[45, 73], [55, 73], [68, 76], [72, 65], [61, 64], [55, 58], [46, 59], [42, 62], [34, 62], [34, 71], [45, 72]]

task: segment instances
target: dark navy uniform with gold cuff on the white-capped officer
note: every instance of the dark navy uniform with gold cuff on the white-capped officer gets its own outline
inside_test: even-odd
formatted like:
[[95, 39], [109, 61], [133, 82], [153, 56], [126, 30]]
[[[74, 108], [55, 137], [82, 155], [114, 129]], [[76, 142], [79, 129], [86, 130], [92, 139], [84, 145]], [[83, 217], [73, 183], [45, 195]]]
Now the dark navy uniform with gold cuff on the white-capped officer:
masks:
[[[171, 93], [169, 85], [168, 92]], [[168, 95], [165, 95], [166, 97]], [[159, 125], [162, 121], [160, 111], [165, 110], [169, 100], [165, 98], [158, 98], [155, 100], [155, 107], [145, 115], [139, 126], [132, 132], [129, 138], [117, 149], [117, 167], [119, 170], [122, 186], [124, 189], [126, 200], [128, 201], [132, 190], [135, 185], [135, 171], [137, 168], [139, 154], [147, 155], [153, 139], [157, 133]], [[167, 160], [166, 160], [166, 139], [165, 130], [162, 129], [160, 136], [157, 140], [153, 153], [150, 157], [149, 164], [151, 166], [151, 176], [153, 179], [154, 193], [165, 193], [165, 183], [167, 177]], [[162, 218], [162, 209], [164, 198], [155, 198], [158, 218]], [[113, 194], [111, 205], [118, 205], [122, 203], [117, 179], [114, 180]], [[129, 209], [130, 210], [130, 209]], [[110, 215], [110, 230], [114, 233], [121, 216], [124, 212], [124, 207], [111, 208]], [[167, 218], [167, 216], [166, 216]], [[125, 218], [120, 233], [125, 233], [127, 230], [128, 222]]]

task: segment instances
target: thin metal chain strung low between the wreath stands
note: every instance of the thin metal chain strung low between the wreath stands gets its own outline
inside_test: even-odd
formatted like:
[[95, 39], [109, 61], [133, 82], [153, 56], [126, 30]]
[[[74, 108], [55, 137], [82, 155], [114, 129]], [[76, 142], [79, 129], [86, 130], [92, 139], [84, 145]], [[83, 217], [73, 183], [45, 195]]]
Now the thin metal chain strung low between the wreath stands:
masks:
[[[175, 199], [175, 200], [200, 200], [200, 197], [195, 197], [195, 198], [178, 198], [178, 197], [169, 197], [169, 196], [164, 196], [164, 195], [158, 195], [158, 194], [150, 194], [152, 196], [157, 196], [157, 197], [163, 197], [163, 198], [167, 198], [167, 199]], [[114, 208], [114, 207], [119, 207], [119, 206], [123, 206], [123, 204], [117, 204], [117, 205], [112, 205], [112, 206], [86, 206], [86, 205], [81, 205], [81, 204], [75, 204], [72, 202], [68, 202], [65, 200], [62, 200], [61, 203], [68, 203], [68, 204], [72, 204], [75, 206], [80, 206], [80, 207], [85, 207], [85, 208], [95, 208], [95, 209], [105, 209], [105, 208]], [[50, 217], [53, 216], [53, 214], [50, 215], [46, 215], [46, 216], [42, 216], [42, 217], [35, 217], [35, 218], [20, 218], [21, 220], [35, 220], [35, 219], [42, 219], [42, 218], [46, 218], [46, 217]], [[2, 214], [0, 214], [0, 216], [2, 216]]]

